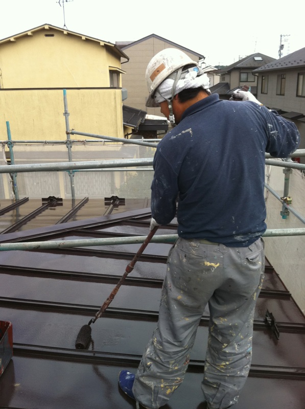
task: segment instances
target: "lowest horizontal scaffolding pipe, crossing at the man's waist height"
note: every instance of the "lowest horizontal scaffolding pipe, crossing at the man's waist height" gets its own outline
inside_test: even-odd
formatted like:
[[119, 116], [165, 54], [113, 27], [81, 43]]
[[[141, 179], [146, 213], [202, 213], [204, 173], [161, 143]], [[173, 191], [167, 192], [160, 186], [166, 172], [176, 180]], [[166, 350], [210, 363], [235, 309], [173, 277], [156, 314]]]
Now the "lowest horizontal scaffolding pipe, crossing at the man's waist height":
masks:
[[[305, 236], [304, 229], [270, 229], [266, 230], [263, 237], [280, 236]], [[143, 243], [147, 236], [133, 237], [107, 237], [95, 239], [78, 240], [52, 240], [52, 241], [33, 241], [25, 243], [1, 243], [0, 251], [10, 250], [40, 250], [45, 248], [67, 248], [67, 247], [87, 247], [87, 246], [105, 246], [115, 244], [137, 244]], [[178, 239], [177, 234], [165, 234], [154, 236], [152, 243], [174, 243]]]

